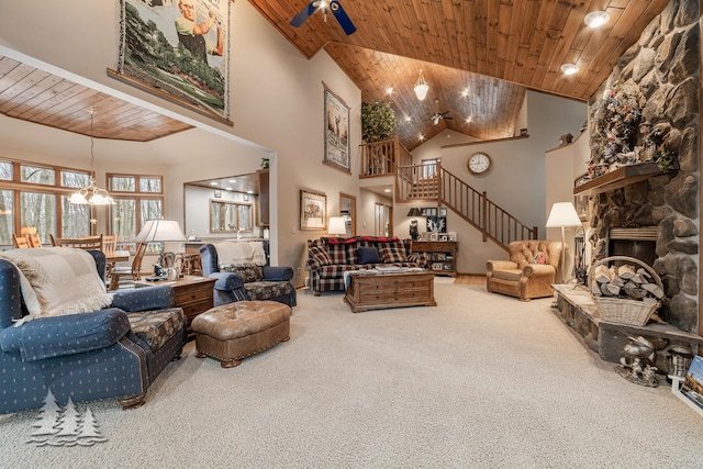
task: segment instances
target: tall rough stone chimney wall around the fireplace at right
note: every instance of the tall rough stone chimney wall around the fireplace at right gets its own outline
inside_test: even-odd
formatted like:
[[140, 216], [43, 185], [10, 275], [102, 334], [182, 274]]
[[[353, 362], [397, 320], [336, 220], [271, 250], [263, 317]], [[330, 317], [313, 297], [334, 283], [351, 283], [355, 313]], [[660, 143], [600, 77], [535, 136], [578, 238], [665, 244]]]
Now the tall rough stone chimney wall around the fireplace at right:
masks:
[[[654, 269], [661, 277], [667, 297], [659, 315], [688, 332], [699, 330], [700, 301], [699, 16], [698, 1], [672, 0], [621, 57], [589, 107], [590, 170], [599, 164], [601, 171], [609, 164], [612, 168], [618, 157], [621, 161], [641, 161], [656, 160], [662, 149], [678, 153], [678, 170], [593, 196], [589, 222], [594, 261], [607, 255], [611, 227], [658, 227]], [[612, 134], [611, 144], [603, 138], [603, 111], [599, 107], [604, 93], [618, 85], [638, 94], [641, 114], [632, 141], [613, 152]]]

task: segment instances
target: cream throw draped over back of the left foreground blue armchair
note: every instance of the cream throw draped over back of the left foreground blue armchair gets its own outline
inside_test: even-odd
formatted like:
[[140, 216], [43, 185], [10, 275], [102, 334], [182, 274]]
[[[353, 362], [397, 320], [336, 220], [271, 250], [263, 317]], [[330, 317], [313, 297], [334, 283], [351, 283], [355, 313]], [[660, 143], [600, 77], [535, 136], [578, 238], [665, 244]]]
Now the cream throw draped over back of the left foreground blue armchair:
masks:
[[21, 282], [22, 295], [32, 315], [89, 313], [112, 303], [93, 257], [83, 249], [10, 249], [0, 257], [14, 264], [26, 278], [26, 282]]

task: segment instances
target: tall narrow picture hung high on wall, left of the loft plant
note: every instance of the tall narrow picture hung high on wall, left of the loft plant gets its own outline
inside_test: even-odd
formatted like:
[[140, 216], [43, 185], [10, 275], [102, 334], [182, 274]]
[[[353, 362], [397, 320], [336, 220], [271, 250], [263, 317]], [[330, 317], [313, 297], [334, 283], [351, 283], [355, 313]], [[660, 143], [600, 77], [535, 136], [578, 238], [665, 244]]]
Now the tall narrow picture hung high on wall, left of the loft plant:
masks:
[[325, 86], [325, 165], [352, 172], [349, 161], [349, 108]]

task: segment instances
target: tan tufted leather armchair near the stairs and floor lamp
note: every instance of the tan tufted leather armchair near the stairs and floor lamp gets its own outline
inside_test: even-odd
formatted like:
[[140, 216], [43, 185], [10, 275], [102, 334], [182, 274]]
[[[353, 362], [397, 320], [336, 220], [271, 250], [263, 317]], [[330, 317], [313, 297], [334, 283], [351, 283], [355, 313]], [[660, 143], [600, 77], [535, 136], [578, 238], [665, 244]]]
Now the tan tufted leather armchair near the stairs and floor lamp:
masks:
[[551, 297], [551, 283], [556, 281], [561, 256], [561, 242], [516, 241], [507, 245], [507, 252], [510, 260], [486, 263], [487, 290], [517, 297], [521, 301]]

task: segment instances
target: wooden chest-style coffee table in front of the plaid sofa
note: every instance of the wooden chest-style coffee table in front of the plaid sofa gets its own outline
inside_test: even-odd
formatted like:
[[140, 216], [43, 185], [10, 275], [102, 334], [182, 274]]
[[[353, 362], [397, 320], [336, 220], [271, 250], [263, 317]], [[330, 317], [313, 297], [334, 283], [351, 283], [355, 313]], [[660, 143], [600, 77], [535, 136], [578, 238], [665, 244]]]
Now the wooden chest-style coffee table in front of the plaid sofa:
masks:
[[402, 306], [436, 306], [433, 272], [349, 275], [344, 301], [352, 312]]

